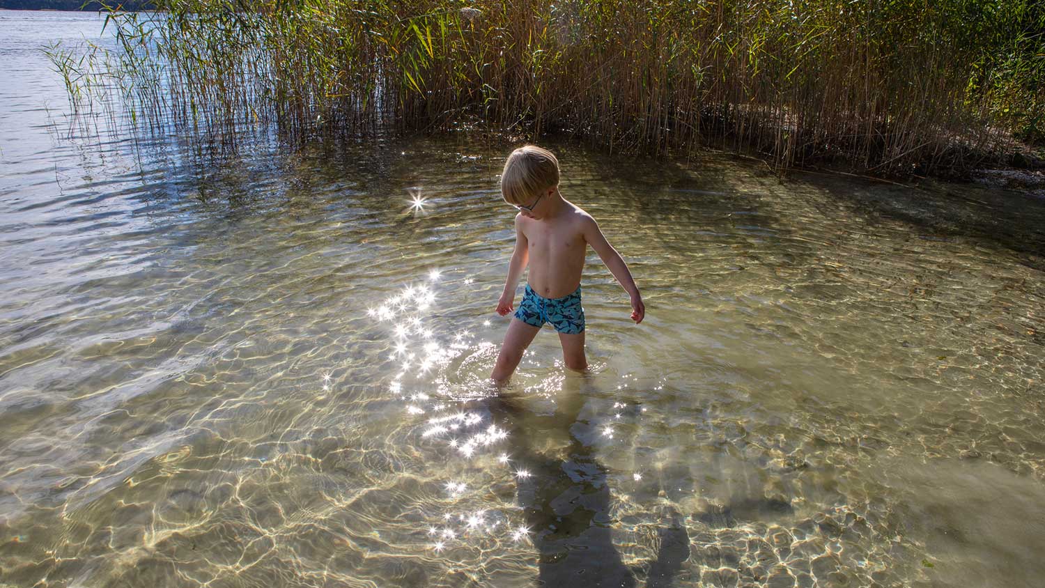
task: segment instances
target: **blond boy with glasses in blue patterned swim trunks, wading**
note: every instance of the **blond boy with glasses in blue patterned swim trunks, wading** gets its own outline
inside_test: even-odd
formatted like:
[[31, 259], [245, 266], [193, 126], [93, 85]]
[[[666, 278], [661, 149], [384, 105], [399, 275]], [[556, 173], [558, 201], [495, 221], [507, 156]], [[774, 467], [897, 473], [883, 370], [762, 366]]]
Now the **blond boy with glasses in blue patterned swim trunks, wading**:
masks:
[[544, 323], [551, 323], [559, 333], [566, 368], [584, 370], [587, 360], [580, 284], [587, 245], [631, 297], [631, 320], [637, 324], [646, 315], [646, 307], [635, 281], [591, 215], [559, 193], [559, 161], [551, 151], [535, 145], [512, 151], [501, 175], [501, 193], [518, 214], [515, 251], [508, 265], [505, 291], [497, 302], [497, 314], [504, 316], [512, 311], [515, 287], [527, 264], [530, 275], [490, 378], [498, 385], [511, 378], [522, 352]]

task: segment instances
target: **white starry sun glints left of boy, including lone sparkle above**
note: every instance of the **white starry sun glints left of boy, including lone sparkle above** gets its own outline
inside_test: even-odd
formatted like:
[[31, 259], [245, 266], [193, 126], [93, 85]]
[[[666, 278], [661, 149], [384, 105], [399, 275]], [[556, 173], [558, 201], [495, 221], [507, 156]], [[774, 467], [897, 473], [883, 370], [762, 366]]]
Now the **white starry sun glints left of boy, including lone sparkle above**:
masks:
[[[420, 190], [416, 189], [413, 195], [414, 208], [422, 210], [424, 198]], [[388, 390], [400, 402], [402, 419], [408, 423], [413, 421], [416, 450], [442, 453], [448, 461], [448, 471], [460, 465], [460, 473], [441, 483], [444, 491], [439, 498], [441, 505], [432, 513], [437, 520], [422, 527], [425, 530], [422, 534], [426, 532], [432, 538], [428, 545], [437, 554], [456, 552], [459, 547], [469, 545], [480, 547], [471, 543], [479, 538], [521, 541], [529, 537], [530, 531], [518, 525], [518, 521], [512, 523], [510, 511], [502, 512], [504, 505], [477, 507], [488, 504], [490, 491], [505, 480], [526, 479], [531, 473], [511, 464], [505, 446], [510, 441], [508, 430], [491, 422], [485, 408], [469, 409], [471, 400], [485, 398], [489, 391], [482, 386], [462, 391], [446, 382], [455, 360], [487, 353], [493, 344], [477, 340], [475, 334], [467, 329], [448, 333], [427, 325], [427, 310], [437, 300], [435, 286], [446, 285], [447, 281], [438, 268], [432, 268], [426, 278], [424, 282], [404, 285], [367, 310], [374, 325], [388, 333], [388, 347], [382, 354], [392, 364]], [[463, 281], [473, 282], [471, 278]], [[444, 324], [436, 322], [433, 326]], [[483, 325], [488, 327], [490, 322]], [[483, 477], [487, 479], [483, 481]]]

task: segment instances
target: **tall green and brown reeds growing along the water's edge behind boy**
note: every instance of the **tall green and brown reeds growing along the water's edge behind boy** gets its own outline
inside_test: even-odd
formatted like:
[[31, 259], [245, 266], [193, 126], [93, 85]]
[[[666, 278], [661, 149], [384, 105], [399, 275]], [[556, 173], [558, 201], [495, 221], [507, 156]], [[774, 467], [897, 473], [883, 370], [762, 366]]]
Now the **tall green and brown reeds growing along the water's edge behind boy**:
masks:
[[479, 127], [907, 174], [1045, 133], [1037, 0], [156, 4], [110, 14], [108, 75], [138, 120], [222, 141]]

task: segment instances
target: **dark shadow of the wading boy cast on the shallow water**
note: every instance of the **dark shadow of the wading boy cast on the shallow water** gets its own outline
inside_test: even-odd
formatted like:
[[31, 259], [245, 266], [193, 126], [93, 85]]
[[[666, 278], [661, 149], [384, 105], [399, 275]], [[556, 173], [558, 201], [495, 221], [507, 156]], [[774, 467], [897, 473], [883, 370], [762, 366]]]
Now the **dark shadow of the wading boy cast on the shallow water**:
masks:
[[[580, 386], [571, 385], [578, 380], [566, 381], [552, 415], [527, 409], [524, 399], [509, 393], [488, 399], [494, 422], [514, 442], [516, 469], [530, 473], [517, 481], [517, 499], [539, 551], [538, 584], [633, 587], [634, 574], [613, 545], [606, 469], [584, 442], [594, 437], [587, 434], [593, 425], [578, 419], [584, 397]], [[552, 450], [557, 456], [534, 448], [535, 441], [545, 438], [548, 445], [565, 445]], [[689, 536], [677, 515], [658, 535], [660, 547], [648, 569], [647, 587], [671, 586], [690, 557]]]

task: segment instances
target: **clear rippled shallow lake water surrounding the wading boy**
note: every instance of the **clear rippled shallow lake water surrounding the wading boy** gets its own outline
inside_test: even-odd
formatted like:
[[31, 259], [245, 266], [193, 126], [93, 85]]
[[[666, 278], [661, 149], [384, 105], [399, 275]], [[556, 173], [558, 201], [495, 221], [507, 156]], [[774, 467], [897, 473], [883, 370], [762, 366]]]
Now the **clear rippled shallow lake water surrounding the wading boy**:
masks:
[[100, 22], [0, 11], [0, 586], [1040, 585], [1042, 201], [553, 143], [647, 319], [491, 396], [507, 144], [136, 149]]

